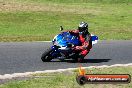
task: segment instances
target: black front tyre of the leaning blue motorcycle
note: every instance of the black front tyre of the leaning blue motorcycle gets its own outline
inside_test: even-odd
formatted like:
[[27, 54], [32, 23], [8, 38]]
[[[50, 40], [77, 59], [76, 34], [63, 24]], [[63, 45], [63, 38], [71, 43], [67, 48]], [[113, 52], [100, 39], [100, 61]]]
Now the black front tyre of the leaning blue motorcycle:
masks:
[[42, 60], [43, 62], [49, 62], [49, 61], [51, 61], [51, 60], [53, 59], [53, 57], [50, 55], [51, 52], [52, 52], [52, 49], [51, 49], [51, 48], [47, 49], [47, 50], [42, 54], [41, 60]]

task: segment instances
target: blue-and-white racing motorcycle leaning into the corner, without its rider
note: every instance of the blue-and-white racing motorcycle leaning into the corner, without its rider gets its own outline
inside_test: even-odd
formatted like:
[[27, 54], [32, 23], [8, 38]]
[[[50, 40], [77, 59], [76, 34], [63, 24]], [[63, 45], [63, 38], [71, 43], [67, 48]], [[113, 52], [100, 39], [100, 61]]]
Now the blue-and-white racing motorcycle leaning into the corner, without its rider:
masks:
[[[63, 30], [63, 27], [60, 27], [60, 30]], [[92, 46], [96, 44], [98, 41], [98, 37], [91, 34], [90, 42]], [[41, 60], [43, 62], [49, 62], [52, 59], [73, 59], [77, 61], [79, 58], [80, 51], [75, 50], [75, 46], [81, 45], [78, 37], [70, 32], [61, 32], [56, 35], [52, 40], [53, 46], [47, 49], [41, 56]]]

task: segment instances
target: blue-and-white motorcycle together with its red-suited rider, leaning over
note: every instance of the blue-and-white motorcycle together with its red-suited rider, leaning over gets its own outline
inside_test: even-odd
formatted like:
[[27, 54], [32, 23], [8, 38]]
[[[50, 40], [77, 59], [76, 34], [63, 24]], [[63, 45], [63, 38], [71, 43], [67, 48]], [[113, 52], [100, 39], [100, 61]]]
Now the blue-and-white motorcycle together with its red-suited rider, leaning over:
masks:
[[[60, 30], [63, 30], [62, 26]], [[57, 34], [52, 40], [53, 46], [42, 54], [41, 60], [49, 62], [52, 59], [72, 59], [82, 62], [97, 40], [98, 36], [89, 33], [88, 24], [81, 22], [76, 30]]]

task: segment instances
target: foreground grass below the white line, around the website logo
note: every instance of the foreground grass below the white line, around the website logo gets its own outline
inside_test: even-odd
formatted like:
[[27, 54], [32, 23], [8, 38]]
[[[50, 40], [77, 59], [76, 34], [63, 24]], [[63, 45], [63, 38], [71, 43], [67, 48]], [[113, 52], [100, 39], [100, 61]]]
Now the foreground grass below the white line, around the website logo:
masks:
[[[130, 74], [132, 75], [132, 66], [111, 67], [111, 68], [89, 68], [87, 74]], [[13, 81], [0, 85], [0, 88], [131, 88], [129, 84], [86, 84], [80, 86], [76, 82], [78, 71], [35, 74], [41, 78], [33, 78], [24, 81]], [[47, 76], [47, 77], [46, 77]]]

